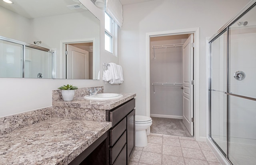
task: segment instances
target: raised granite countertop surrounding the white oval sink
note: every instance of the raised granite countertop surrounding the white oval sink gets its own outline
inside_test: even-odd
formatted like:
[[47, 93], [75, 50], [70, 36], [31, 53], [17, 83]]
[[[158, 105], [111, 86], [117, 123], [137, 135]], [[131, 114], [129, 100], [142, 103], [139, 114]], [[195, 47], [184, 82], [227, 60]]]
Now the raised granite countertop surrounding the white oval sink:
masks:
[[84, 97], [76, 97], [73, 101], [53, 101], [52, 106], [110, 110], [136, 96], [136, 93], [120, 94], [122, 94], [123, 97], [109, 100], [92, 100], [84, 99]]

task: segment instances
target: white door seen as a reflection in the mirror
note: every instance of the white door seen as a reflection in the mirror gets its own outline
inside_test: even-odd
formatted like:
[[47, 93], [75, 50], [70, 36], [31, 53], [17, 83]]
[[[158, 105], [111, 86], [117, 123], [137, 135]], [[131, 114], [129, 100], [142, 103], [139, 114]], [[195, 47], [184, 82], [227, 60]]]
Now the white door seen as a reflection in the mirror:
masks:
[[67, 45], [66, 73], [67, 79], [89, 78], [89, 53], [86, 50]]

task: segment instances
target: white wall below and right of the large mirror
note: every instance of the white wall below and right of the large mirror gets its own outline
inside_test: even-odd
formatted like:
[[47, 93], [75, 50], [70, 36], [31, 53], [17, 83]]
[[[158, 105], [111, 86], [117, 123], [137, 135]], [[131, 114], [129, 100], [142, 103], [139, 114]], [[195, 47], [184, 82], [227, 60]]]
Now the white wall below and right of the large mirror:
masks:
[[[118, 58], [104, 50], [104, 10], [97, 8], [91, 0], [80, 1], [100, 20], [100, 66], [102, 62], [118, 64]], [[100, 70], [102, 76], [102, 67]], [[118, 92], [121, 86], [104, 84], [102, 80], [0, 78], [0, 117], [52, 106], [52, 89], [67, 83], [78, 87], [104, 85], [106, 92]]]

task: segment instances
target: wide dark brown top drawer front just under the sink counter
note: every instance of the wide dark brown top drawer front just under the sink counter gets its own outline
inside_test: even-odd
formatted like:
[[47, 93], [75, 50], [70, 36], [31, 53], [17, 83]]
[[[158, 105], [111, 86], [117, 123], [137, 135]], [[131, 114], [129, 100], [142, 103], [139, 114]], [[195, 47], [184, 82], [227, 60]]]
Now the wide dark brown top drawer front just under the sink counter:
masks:
[[114, 111], [110, 111], [110, 121], [112, 122], [112, 125], [116, 125], [122, 118], [124, 118], [130, 111], [132, 111], [134, 107], [135, 99], [132, 99]]

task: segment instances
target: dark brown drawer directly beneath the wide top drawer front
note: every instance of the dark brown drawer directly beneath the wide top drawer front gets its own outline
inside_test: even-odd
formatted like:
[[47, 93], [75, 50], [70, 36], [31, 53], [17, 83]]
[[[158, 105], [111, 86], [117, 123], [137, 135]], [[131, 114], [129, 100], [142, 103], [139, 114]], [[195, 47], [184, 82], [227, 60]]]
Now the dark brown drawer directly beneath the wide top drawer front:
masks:
[[126, 117], [110, 130], [110, 146], [114, 145], [116, 140], [126, 129]]

